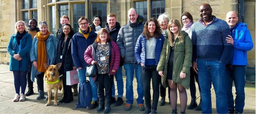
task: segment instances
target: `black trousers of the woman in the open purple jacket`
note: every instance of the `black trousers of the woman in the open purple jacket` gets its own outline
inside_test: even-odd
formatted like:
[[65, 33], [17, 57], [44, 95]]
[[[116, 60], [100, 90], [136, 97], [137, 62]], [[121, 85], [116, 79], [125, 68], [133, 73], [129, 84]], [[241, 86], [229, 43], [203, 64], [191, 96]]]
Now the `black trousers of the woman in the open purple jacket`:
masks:
[[[105, 99], [106, 106], [110, 106], [110, 101], [112, 98], [112, 85], [114, 81], [114, 75], [108, 74], [98, 74], [97, 83], [98, 83], [98, 97], [99, 99], [104, 99], [104, 89], [105, 89]], [[100, 100], [100, 104], [104, 104]]]

